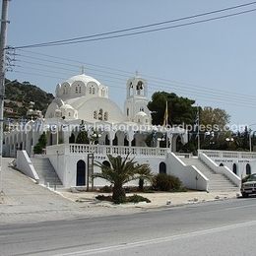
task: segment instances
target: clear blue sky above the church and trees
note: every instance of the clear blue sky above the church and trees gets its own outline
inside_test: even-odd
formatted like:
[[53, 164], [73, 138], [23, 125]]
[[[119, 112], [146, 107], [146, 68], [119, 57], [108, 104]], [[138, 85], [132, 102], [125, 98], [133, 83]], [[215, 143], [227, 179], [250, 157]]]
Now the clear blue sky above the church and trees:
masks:
[[[8, 44], [20, 46], [114, 31], [247, 2], [12, 0]], [[256, 8], [256, 5], [243, 10], [250, 8]], [[109, 86], [111, 98], [122, 107], [126, 80], [137, 70], [148, 79], [150, 95], [161, 90], [174, 92], [194, 98], [203, 106], [224, 108], [231, 115], [231, 123], [256, 123], [255, 24], [256, 12], [253, 12], [175, 30], [26, 49], [27, 52], [16, 52], [17, 66], [14, 72], [8, 72], [7, 78], [30, 81], [54, 93], [57, 83], [80, 73], [80, 66], [85, 63], [86, 74]]]

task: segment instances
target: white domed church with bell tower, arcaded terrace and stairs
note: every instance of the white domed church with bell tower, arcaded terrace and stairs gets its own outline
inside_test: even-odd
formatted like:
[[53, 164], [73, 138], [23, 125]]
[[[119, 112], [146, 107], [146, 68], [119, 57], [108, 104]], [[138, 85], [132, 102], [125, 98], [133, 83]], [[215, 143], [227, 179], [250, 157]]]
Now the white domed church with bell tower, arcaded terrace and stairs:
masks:
[[[100, 171], [93, 161], [109, 164], [107, 155], [125, 157], [128, 153], [139, 163], [148, 163], [154, 173], [178, 176], [187, 188], [209, 191], [240, 186], [243, 165], [238, 159], [224, 159], [226, 164], [220, 165], [217, 155], [212, 158], [213, 152], [208, 156], [200, 151], [198, 157], [176, 153], [177, 141], [187, 143], [187, 131], [152, 125], [148, 83], [138, 74], [126, 83], [123, 110], [108, 94], [106, 86], [85, 74], [58, 84], [44, 117], [29, 109], [32, 120], [17, 123], [5, 133], [4, 156], [17, 158], [17, 168], [45, 186], [106, 185], [91, 179], [92, 172]], [[88, 134], [85, 144], [76, 143], [81, 129]], [[37, 156], [33, 147], [43, 132], [47, 147], [45, 154]], [[162, 141], [164, 148], [160, 147]], [[234, 172], [231, 162], [236, 160]], [[247, 155], [246, 160], [253, 167], [255, 154]]]

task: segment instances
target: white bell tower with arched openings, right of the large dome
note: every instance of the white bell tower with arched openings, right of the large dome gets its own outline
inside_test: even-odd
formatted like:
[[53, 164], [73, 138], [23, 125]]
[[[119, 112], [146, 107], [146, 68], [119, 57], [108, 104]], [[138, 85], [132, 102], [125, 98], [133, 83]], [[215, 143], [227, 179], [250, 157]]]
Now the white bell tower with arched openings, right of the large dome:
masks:
[[136, 116], [139, 112], [144, 112], [148, 117], [144, 119], [151, 124], [151, 113], [148, 108], [148, 83], [136, 72], [136, 76], [130, 78], [126, 84], [126, 100], [124, 103], [124, 113], [126, 120], [138, 122]]

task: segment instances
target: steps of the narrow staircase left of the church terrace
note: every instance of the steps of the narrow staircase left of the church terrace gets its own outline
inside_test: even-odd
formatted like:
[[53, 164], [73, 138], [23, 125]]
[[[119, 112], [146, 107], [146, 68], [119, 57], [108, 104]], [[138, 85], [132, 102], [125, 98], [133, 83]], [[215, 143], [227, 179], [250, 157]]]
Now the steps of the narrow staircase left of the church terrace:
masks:
[[44, 157], [31, 158], [32, 165], [39, 177], [39, 184], [51, 188], [62, 188], [62, 182], [59, 179], [54, 167], [51, 165], [50, 160]]

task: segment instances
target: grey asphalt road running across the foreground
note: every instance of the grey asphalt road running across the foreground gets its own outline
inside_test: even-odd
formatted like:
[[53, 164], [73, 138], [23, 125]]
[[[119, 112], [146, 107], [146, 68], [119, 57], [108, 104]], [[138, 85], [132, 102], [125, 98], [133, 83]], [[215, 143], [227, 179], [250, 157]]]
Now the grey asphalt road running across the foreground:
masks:
[[0, 225], [0, 255], [256, 255], [256, 199]]

